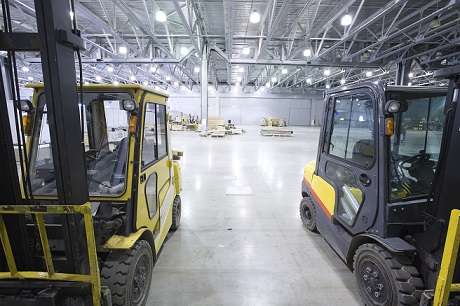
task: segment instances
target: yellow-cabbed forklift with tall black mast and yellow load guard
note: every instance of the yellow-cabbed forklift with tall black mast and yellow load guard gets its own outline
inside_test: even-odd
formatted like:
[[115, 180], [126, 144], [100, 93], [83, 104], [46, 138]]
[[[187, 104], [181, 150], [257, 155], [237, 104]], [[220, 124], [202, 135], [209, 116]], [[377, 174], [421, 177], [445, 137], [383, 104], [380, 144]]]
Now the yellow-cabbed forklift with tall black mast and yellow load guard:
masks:
[[[73, 1], [34, 1], [38, 33], [14, 32], [1, 4], [0, 305], [145, 305], [181, 217], [167, 95], [76, 85], [85, 46], [62, 18]], [[31, 100], [20, 96], [18, 51], [40, 51]]]

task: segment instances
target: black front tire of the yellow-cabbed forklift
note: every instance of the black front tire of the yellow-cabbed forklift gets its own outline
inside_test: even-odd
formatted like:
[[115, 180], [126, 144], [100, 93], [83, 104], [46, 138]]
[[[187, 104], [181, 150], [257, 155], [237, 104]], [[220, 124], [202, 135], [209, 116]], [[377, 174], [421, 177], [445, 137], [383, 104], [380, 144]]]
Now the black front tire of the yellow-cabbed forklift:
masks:
[[101, 284], [108, 286], [113, 306], [143, 306], [152, 282], [153, 253], [147, 241], [129, 250], [111, 251], [101, 269]]

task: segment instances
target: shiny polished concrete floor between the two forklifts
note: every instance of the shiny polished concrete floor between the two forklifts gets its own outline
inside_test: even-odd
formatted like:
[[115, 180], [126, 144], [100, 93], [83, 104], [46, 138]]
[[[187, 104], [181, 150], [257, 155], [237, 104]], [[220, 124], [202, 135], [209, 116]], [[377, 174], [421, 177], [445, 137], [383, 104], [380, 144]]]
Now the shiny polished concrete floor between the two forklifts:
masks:
[[184, 152], [181, 226], [160, 253], [147, 304], [362, 305], [353, 273], [299, 217], [319, 128], [293, 128], [293, 137], [245, 128], [224, 138], [173, 132]]

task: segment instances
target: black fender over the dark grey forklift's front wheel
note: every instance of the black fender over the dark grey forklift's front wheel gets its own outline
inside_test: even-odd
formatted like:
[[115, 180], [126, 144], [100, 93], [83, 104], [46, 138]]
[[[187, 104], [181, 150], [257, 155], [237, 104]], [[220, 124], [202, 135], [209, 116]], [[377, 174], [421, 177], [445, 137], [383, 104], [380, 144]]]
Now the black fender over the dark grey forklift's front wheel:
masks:
[[353, 257], [356, 250], [365, 243], [378, 243], [392, 254], [405, 255], [409, 258], [413, 257], [417, 252], [415, 246], [399, 237], [382, 238], [375, 234], [360, 234], [352, 238], [348, 249], [347, 265], [351, 269], [353, 269]]

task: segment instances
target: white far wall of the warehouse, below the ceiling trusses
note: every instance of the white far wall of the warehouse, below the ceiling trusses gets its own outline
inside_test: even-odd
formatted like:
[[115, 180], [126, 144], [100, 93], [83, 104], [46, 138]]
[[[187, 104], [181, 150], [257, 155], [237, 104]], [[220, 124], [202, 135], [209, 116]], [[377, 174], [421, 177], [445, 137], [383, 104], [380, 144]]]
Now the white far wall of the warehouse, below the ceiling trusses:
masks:
[[[208, 92], [209, 117], [224, 117], [242, 125], [259, 125], [267, 116], [286, 118], [288, 125], [311, 125], [312, 119], [315, 124], [321, 124], [322, 94], [254, 93], [242, 92], [236, 87], [228, 92], [225, 89]], [[169, 110], [181, 111], [187, 116], [198, 115], [201, 119], [199, 92], [173, 91], [169, 95]]]

